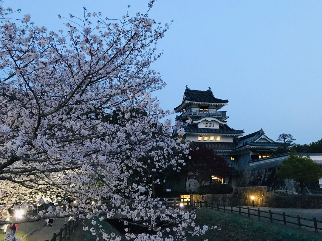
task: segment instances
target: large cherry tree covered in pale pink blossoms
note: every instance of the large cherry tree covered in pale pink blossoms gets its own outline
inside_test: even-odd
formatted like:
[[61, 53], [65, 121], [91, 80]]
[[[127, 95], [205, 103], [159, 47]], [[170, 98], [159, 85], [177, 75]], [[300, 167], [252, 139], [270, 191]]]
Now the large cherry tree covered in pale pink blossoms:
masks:
[[[151, 94], [165, 86], [150, 65], [169, 28], [148, 17], [153, 2], [146, 14], [114, 23], [85, 8], [83, 18], [58, 15], [66, 21], [59, 33], [36, 26], [29, 14], [11, 19], [12, 9], [1, 2], [2, 209], [54, 202], [51, 217], [122, 217], [156, 231], [126, 229], [133, 240], [205, 232], [194, 226], [193, 214], [151, 198], [154, 173], [178, 169], [188, 154], [186, 143], [171, 139], [171, 121], [160, 123], [169, 111]], [[176, 224], [171, 232], [163, 227], [170, 224]], [[90, 231], [115, 239], [99, 227]]]

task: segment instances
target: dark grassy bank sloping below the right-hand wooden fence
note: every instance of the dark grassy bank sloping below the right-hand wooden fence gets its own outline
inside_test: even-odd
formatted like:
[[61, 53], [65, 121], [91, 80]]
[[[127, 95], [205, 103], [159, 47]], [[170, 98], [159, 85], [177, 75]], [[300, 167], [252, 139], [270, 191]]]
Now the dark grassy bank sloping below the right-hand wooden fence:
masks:
[[208, 230], [204, 236], [189, 237], [189, 241], [322, 241], [321, 234], [316, 234], [313, 229], [297, 230], [282, 223], [258, 222], [208, 208], [197, 210], [196, 215], [197, 225], [217, 226], [221, 230]]

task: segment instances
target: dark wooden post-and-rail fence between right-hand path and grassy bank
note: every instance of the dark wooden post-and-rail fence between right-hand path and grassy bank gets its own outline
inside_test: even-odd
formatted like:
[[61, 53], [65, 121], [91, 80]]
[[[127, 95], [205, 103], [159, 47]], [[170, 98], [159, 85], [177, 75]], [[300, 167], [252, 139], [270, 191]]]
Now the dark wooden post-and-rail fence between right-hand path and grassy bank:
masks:
[[[224, 212], [230, 211], [231, 213], [234, 213], [234, 212], [239, 213], [239, 215], [242, 215], [242, 213], [243, 213], [243, 214], [247, 214], [248, 218], [250, 218], [251, 216], [256, 216], [256, 217], [258, 217], [259, 221], [260, 221], [260, 218], [267, 218], [267, 219], [270, 219], [271, 223], [273, 222], [273, 220], [275, 220], [275, 221], [283, 222], [284, 225], [286, 225], [287, 223], [297, 225], [298, 228], [301, 228], [302, 226], [308, 227], [308, 228], [314, 228], [316, 233], [318, 232], [318, 230], [322, 230], [321, 227], [317, 227], [317, 223], [322, 223], [322, 221], [318, 221], [315, 217], [313, 219], [300, 217], [299, 215], [297, 215], [295, 217], [295, 216], [291, 216], [291, 215], [286, 215], [285, 212], [280, 214], [280, 213], [274, 213], [271, 210], [269, 210], [269, 211], [260, 210], [260, 208], [253, 209], [250, 207], [241, 207], [241, 206], [225, 206], [225, 205], [220, 205], [220, 204], [213, 204], [212, 202], [211, 203], [209, 203], [209, 202], [194, 203], [194, 206], [223, 210]], [[246, 212], [246, 210], [247, 210], [247, 212]], [[255, 211], [255, 214], [251, 213], [251, 211]], [[265, 214], [267, 214], [267, 215], [265, 215]], [[277, 215], [280, 218], [273, 218], [272, 215]], [[313, 226], [303, 224], [303, 222], [301, 222], [301, 220], [308, 221], [306, 223], [311, 223], [311, 224], [313, 224]]]

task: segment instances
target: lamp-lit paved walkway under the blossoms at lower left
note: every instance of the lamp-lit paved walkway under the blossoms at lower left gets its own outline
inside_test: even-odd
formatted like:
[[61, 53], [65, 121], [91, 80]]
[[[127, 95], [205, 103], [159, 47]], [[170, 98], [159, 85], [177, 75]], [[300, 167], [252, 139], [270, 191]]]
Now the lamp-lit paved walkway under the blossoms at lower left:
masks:
[[[21, 238], [21, 241], [45, 241], [51, 240], [53, 233], [59, 233], [60, 228], [68, 223], [68, 218], [57, 218], [54, 220], [52, 227], [46, 225], [45, 220], [37, 222], [18, 224], [16, 238]], [[1, 230], [2, 231], [2, 230]], [[9, 227], [7, 232], [10, 232]], [[0, 234], [0, 240], [4, 240], [4, 234]]]

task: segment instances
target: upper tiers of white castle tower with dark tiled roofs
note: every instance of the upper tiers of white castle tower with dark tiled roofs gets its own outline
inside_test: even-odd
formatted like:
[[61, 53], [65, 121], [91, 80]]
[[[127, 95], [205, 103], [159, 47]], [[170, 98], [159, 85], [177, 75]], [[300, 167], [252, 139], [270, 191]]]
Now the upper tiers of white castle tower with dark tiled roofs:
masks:
[[230, 153], [237, 144], [234, 138], [243, 135], [244, 131], [234, 130], [226, 124], [228, 116], [220, 109], [227, 104], [228, 100], [215, 98], [210, 87], [207, 91], [186, 88], [182, 103], [174, 110], [181, 112], [177, 121], [190, 119], [191, 124], [185, 125], [184, 136], [179, 136], [175, 130], [173, 138], [187, 139], [195, 146], [211, 149], [231, 163]]

